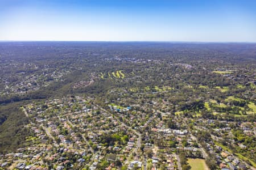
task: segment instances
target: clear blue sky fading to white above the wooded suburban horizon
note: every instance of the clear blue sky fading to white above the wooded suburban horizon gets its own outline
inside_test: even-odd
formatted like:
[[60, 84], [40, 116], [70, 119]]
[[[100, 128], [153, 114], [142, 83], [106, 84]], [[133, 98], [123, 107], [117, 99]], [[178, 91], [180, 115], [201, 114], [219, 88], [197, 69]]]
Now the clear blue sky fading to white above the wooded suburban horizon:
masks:
[[256, 0], [0, 0], [0, 40], [256, 42]]

